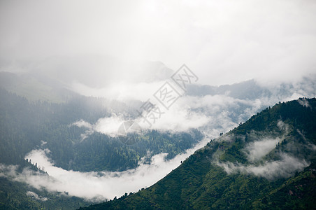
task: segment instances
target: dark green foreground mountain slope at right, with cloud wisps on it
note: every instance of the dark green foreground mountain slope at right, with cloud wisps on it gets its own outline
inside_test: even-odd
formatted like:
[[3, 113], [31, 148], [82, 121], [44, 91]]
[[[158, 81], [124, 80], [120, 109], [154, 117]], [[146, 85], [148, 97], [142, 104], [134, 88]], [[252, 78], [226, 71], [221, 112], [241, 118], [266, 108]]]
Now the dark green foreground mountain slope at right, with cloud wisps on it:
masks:
[[275, 104], [150, 188], [80, 209], [315, 209], [316, 99]]

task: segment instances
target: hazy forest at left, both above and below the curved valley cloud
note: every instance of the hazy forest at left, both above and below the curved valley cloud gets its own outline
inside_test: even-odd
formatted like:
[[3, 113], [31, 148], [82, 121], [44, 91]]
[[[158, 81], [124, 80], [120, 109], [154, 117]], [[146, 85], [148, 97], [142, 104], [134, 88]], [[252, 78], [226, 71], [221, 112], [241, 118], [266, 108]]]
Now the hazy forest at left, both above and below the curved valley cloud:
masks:
[[[24, 160], [36, 148], [48, 148], [55, 165], [64, 169], [123, 171], [136, 168], [141, 161], [150, 164], [150, 158], [158, 153], [168, 153], [166, 158], [171, 159], [203, 138], [197, 130], [186, 133], [151, 130], [131, 146], [99, 132], [82, 141], [81, 134], [86, 129], [72, 124], [78, 120], [95, 123], [110, 116], [108, 101], [74, 94], [62, 103], [31, 101], [1, 87], [0, 98], [0, 174], [4, 165], [18, 166], [18, 172], [27, 168], [45, 173], [34, 160]], [[117, 109], [131, 112], [130, 107], [120, 102], [111, 103]], [[0, 176], [0, 209], [76, 209], [92, 203], [63, 193], [36, 190], [8, 178]]]

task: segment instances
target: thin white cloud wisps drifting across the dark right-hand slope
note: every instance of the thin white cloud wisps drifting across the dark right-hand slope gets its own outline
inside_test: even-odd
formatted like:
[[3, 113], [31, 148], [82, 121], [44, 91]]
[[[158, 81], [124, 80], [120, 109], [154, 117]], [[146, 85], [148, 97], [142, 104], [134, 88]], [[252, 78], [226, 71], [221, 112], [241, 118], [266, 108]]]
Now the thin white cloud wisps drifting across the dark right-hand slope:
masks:
[[[270, 160], [265, 161], [264, 163], [260, 161], [263, 160], [262, 158], [264, 158], [264, 156], [273, 151], [278, 143], [281, 143], [283, 139], [287, 137], [287, 134], [289, 134], [289, 125], [282, 122], [282, 120], [278, 121], [277, 126], [281, 132], [278, 134], [279, 137], [275, 137], [275, 132], [252, 131], [250, 134], [247, 134], [247, 141], [250, 141], [250, 143], [245, 145], [243, 152], [247, 155], [247, 159], [250, 161], [249, 164], [240, 164], [238, 162], [220, 162], [217, 158], [218, 154], [213, 156], [214, 163], [222, 167], [227, 174], [241, 172], [244, 174], [263, 176], [266, 179], [289, 177], [292, 176], [294, 172], [301, 171], [305, 167], [308, 167], [310, 163], [306, 160], [301, 160], [287, 153], [278, 153], [280, 159], [276, 161]], [[301, 134], [301, 132], [299, 133]], [[231, 141], [231, 139], [234, 138], [231, 138], [229, 135], [220, 138], [222, 141]], [[310, 146], [313, 148], [313, 144], [310, 144]]]

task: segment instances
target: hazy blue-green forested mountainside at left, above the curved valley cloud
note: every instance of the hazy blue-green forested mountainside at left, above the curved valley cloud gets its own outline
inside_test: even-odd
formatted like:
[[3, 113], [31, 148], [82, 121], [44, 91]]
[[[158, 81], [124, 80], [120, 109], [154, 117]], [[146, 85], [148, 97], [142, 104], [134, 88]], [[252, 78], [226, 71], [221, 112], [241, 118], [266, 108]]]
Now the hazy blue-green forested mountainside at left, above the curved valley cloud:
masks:
[[167, 158], [171, 159], [202, 138], [197, 130], [190, 134], [153, 130], [132, 146], [96, 132], [82, 141], [80, 134], [85, 128], [71, 123], [81, 119], [95, 123], [110, 116], [98, 99], [76, 97], [66, 104], [30, 103], [1, 88], [0, 98], [0, 162], [8, 165], [19, 164], [45, 141], [45, 148], [50, 149], [50, 158], [58, 167], [82, 172], [121, 171], [137, 167], [146, 155], [150, 160], [152, 155], [168, 153]]

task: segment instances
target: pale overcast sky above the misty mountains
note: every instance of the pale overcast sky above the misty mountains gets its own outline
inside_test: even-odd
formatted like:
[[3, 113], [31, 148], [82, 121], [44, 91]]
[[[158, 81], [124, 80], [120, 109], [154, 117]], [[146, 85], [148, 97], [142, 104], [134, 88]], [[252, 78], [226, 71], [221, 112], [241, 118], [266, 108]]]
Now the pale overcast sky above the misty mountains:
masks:
[[313, 0], [1, 0], [0, 57], [185, 63], [210, 85], [295, 80], [315, 73], [315, 11]]

